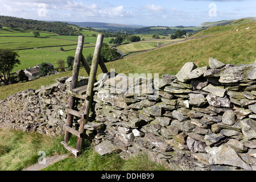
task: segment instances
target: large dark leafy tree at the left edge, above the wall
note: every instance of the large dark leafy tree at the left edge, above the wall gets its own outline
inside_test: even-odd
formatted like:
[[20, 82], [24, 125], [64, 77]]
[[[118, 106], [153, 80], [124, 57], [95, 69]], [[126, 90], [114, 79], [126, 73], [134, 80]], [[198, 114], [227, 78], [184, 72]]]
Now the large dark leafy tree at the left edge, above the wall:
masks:
[[20, 64], [18, 52], [11, 49], [0, 49], [0, 78], [1, 81], [8, 85], [11, 77], [11, 71], [16, 64]]

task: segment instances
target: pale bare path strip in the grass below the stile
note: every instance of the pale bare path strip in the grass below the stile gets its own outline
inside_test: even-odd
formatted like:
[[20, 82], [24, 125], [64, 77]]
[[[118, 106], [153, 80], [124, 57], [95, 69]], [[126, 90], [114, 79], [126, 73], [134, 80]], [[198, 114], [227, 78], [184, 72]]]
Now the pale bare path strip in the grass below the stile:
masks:
[[33, 166], [30, 166], [26, 169], [22, 169], [22, 171], [40, 171], [60, 160], [63, 160], [65, 158], [68, 157], [68, 154], [64, 154], [64, 155], [56, 155], [56, 156], [52, 156], [49, 158], [46, 158], [46, 163], [45, 164], [34, 164]]

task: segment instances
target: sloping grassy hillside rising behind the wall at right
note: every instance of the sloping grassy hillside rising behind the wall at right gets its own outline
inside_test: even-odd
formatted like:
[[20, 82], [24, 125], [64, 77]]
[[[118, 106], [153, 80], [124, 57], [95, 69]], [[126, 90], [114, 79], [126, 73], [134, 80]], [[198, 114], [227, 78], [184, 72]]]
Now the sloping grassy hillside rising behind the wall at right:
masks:
[[[250, 27], [249, 29], [245, 29]], [[238, 31], [236, 31], [238, 30]], [[198, 35], [208, 38], [189, 40], [141, 53], [109, 63], [118, 73], [176, 74], [187, 62], [200, 67], [208, 65], [209, 57], [223, 63], [252, 64], [256, 59], [256, 22], [214, 26]]]

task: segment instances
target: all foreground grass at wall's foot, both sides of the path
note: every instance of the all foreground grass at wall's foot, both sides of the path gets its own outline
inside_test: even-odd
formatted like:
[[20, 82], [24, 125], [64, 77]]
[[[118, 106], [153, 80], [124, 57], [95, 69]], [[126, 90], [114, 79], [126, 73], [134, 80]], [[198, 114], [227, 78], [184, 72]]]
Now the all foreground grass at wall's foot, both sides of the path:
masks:
[[[26, 133], [0, 129], [0, 171], [19, 171], [38, 163], [39, 151], [46, 152], [46, 157], [67, 154], [60, 144], [64, 137], [48, 137], [38, 133]], [[71, 137], [69, 145], [76, 144], [76, 137]], [[88, 140], [78, 158], [69, 155], [43, 171], [166, 171], [160, 164], [151, 162], [146, 154], [121, 159], [118, 154], [100, 156]]]

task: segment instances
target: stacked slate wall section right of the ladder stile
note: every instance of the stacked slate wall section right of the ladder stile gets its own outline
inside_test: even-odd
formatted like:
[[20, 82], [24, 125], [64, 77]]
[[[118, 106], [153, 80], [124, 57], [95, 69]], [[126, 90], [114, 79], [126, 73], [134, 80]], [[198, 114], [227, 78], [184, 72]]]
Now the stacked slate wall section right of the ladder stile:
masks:
[[101, 155], [144, 151], [171, 168], [256, 170], [256, 61], [235, 67], [210, 58], [209, 67], [186, 63], [176, 76], [105, 74], [97, 84]]

